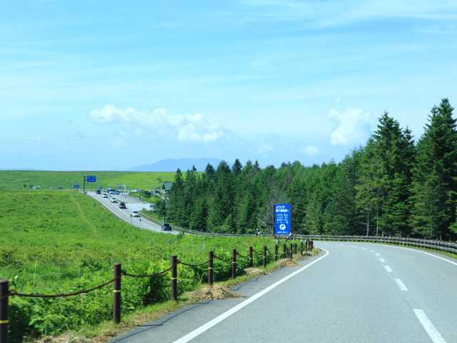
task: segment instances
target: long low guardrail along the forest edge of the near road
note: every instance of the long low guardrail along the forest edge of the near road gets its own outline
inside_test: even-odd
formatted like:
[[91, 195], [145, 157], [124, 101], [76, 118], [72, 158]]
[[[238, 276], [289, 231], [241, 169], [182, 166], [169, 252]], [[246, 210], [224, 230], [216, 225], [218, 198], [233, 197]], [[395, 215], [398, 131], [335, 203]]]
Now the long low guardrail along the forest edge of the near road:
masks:
[[434, 239], [416, 239], [402, 237], [382, 237], [382, 236], [328, 236], [328, 235], [295, 235], [295, 239], [313, 239], [316, 241], [336, 241], [336, 242], [371, 242], [384, 244], [397, 244], [411, 247], [421, 247], [428, 249], [441, 250], [457, 254], [457, 242], [446, 242]]

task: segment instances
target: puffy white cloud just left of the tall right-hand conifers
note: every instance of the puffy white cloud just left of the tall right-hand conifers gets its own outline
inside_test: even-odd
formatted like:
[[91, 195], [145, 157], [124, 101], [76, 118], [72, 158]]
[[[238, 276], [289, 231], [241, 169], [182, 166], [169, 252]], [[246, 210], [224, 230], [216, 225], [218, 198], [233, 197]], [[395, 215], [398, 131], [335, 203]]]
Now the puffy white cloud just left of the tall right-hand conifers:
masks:
[[373, 116], [363, 109], [353, 108], [340, 111], [332, 107], [328, 118], [333, 122], [330, 142], [332, 145], [351, 146], [363, 144], [373, 130]]

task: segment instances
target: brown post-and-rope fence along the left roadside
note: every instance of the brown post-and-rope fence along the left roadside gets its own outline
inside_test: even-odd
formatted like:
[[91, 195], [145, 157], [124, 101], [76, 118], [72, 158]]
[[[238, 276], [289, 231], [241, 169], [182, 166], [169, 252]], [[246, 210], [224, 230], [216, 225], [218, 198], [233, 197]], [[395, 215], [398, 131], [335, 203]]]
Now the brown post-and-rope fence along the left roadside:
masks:
[[[303, 247], [305, 249], [312, 249], [312, 241], [308, 239], [303, 245], [301, 242], [301, 255], [303, 256]], [[286, 251], [286, 244], [283, 244], [283, 249]], [[297, 254], [297, 244], [291, 243], [290, 248], [288, 249], [290, 252], [290, 257], [293, 257], [293, 253]], [[214, 259], [224, 262], [226, 264], [230, 264], [230, 272], [231, 278], [234, 279], [237, 275], [237, 261], [236, 257], [241, 257], [242, 259], [247, 259], [249, 267], [253, 267], [253, 253], [257, 256], [263, 257], [263, 267], [266, 267], [268, 262], [268, 254], [269, 256], [274, 257], [274, 261], [278, 260], [278, 244], [275, 245], [274, 254], [271, 253], [266, 247], [263, 246], [263, 252], [257, 252], [253, 247], [248, 247], [248, 255], [240, 254], [236, 251], [236, 249], [232, 249], [231, 259], [225, 259], [223, 257], [219, 257], [214, 252], [209, 252], [209, 259], [205, 262], [201, 263], [187, 263], [183, 262], [176, 257], [176, 255], [171, 256], [171, 267], [161, 270], [160, 272], [156, 272], [153, 274], [131, 274], [126, 271], [121, 270], [121, 264], [116, 263], [114, 264], [114, 277], [109, 279], [102, 284], [97, 286], [91, 287], [89, 289], [81, 289], [75, 292], [69, 293], [61, 293], [61, 294], [38, 294], [38, 293], [21, 293], [17, 292], [15, 289], [9, 289], [9, 282], [6, 279], [0, 279], [0, 343], [7, 343], [8, 339], [8, 327], [9, 327], [9, 298], [11, 297], [29, 297], [29, 298], [64, 298], [64, 297], [75, 297], [80, 294], [86, 294], [89, 292], [94, 292], [97, 289], [104, 288], [109, 284], [113, 285], [113, 321], [116, 324], [121, 322], [121, 280], [123, 277], [134, 277], [134, 278], [154, 278], [159, 277], [161, 275], [165, 275], [171, 272], [171, 299], [174, 301], [178, 300], [178, 265], [182, 264], [185, 267], [191, 268], [201, 268], [204, 266], [208, 266], [208, 285], [210, 287], [214, 284]], [[284, 255], [286, 256], [286, 255]]]

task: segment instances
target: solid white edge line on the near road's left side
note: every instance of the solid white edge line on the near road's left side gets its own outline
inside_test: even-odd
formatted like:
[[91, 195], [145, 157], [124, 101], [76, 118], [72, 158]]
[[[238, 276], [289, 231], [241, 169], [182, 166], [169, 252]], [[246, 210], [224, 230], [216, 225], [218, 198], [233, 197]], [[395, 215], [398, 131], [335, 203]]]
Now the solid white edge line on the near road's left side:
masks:
[[[321, 248], [322, 249], [322, 248]], [[201, 327], [196, 328], [194, 331], [189, 332], [189, 334], [186, 334], [186, 336], [181, 337], [180, 339], [177, 339], [174, 341], [174, 343], [186, 343], [191, 341], [191, 339], [194, 339], [195, 337], [199, 336], [200, 334], [203, 334], [207, 330], [211, 329], [211, 327], [214, 327], [214, 325], [219, 324], [222, 322], [224, 319], [230, 317], [232, 314], [235, 314], [238, 312], [240, 309], [243, 307], [248, 306], [248, 304], [251, 304], [251, 302], [256, 301], [256, 299], [262, 297], [263, 295], [267, 294], [268, 292], [271, 291], [271, 289], [275, 289], [278, 287], [280, 284], [283, 282], [286, 282], [288, 279], [291, 279], [291, 277], [295, 277], [296, 274], [303, 272], [303, 270], [311, 267], [313, 264], [321, 261], [321, 259], [325, 258], [330, 254], [326, 249], [322, 249], [324, 252], [326, 252], [325, 255], [322, 257], [319, 257], [318, 259], [314, 260], [311, 263], [306, 264], [306, 266], [301, 267], [300, 269], [296, 270], [292, 274], [288, 274], [286, 277], [283, 277], [283, 279], [276, 281], [274, 284], [271, 284], [270, 286], [266, 287], [266, 289], [261, 290], [261, 292], [258, 292], [254, 294], [253, 296], [249, 297], [245, 301], [241, 302], [240, 304], [236, 305], [235, 307], [232, 307], [229, 309], [229, 311], [224, 312], [223, 314], [219, 314], [216, 318], [210, 320], [206, 324], [203, 324]]]

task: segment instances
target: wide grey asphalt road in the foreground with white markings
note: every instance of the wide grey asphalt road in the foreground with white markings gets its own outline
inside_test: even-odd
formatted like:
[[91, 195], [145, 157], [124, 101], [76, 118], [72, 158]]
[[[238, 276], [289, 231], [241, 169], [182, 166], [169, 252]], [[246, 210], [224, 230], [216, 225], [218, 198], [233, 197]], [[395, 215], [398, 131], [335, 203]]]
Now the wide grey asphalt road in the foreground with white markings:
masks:
[[243, 298], [186, 307], [113, 342], [457, 342], [456, 259], [315, 245], [328, 254], [242, 285]]

